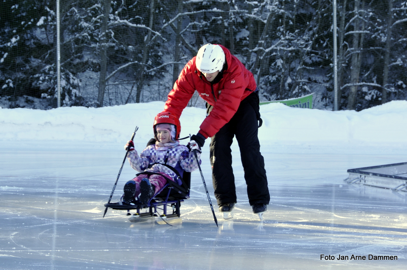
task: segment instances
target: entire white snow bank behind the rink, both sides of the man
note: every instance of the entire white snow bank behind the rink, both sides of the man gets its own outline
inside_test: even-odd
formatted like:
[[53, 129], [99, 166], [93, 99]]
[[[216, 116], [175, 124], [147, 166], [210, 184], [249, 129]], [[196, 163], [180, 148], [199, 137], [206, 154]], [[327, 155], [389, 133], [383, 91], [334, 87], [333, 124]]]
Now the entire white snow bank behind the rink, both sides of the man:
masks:
[[[0, 141], [126, 142], [139, 126], [136, 140], [145, 144], [152, 135], [155, 115], [164, 102], [103, 108], [61, 107], [47, 111], [0, 109]], [[262, 146], [406, 144], [407, 101], [392, 101], [356, 111], [291, 108], [280, 103], [260, 106]], [[185, 108], [181, 136], [194, 134], [205, 110]], [[244, 127], [242, 127], [244, 128]]]

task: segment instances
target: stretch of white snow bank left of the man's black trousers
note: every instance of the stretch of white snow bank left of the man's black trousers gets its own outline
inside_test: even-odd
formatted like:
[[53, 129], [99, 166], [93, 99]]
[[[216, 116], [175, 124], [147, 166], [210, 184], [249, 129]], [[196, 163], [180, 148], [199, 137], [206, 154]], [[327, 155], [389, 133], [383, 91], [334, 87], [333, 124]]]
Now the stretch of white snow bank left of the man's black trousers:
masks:
[[[51, 110], [0, 109], [0, 140], [126, 142], [136, 126], [136, 139], [152, 137], [154, 117], [164, 102], [126, 104], [103, 108], [61, 107]], [[205, 110], [186, 108], [181, 135], [197, 132]]]

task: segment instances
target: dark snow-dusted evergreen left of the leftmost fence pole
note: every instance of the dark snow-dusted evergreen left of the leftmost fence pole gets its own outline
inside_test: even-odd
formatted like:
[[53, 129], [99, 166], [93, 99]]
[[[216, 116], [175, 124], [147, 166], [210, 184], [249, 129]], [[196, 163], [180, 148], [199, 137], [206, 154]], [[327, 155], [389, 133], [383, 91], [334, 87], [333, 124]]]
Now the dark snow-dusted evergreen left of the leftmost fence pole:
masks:
[[35, 85], [35, 73], [48, 40], [53, 36], [38, 31], [48, 20], [48, 2], [5, 0], [0, 3], [0, 95], [40, 97], [44, 89]]

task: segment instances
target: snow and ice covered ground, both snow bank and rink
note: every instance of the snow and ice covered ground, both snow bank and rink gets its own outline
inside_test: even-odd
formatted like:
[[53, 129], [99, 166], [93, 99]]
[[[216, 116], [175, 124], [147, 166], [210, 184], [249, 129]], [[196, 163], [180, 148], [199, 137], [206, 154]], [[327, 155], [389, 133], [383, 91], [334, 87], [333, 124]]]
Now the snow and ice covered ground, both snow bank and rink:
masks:
[[[359, 113], [262, 108], [268, 211], [263, 222], [251, 213], [234, 144], [238, 204], [233, 220], [217, 213], [219, 228], [198, 172], [192, 174], [180, 226], [131, 224], [124, 212], [112, 210], [102, 219], [131, 135], [109, 131], [110, 123], [125, 127], [122, 119], [115, 122], [109, 113], [88, 117], [82, 108], [50, 110], [45, 116], [0, 109], [0, 269], [405, 269], [407, 193], [342, 180], [349, 168], [407, 161], [406, 104]], [[202, 111], [185, 112], [192, 119], [184, 119], [186, 134], [196, 132]], [[133, 121], [146, 129], [137, 135], [138, 149], [149, 137], [151, 115]], [[104, 131], [97, 126], [103, 123]], [[270, 135], [273, 139], [267, 139]], [[202, 168], [215, 201], [208, 142]], [[126, 165], [114, 200], [135, 173]], [[321, 254], [398, 260], [321, 260]]]

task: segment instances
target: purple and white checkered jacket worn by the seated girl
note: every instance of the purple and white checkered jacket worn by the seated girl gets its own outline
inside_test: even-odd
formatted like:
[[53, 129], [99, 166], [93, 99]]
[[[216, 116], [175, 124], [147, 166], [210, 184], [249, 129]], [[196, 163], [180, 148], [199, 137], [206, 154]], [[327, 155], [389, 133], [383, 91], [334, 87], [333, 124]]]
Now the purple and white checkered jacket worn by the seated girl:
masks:
[[[198, 151], [197, 156], [199, 164], [201, 164], [201, 153]], [[172, 166], [179, 172], [181, 177], [184, 171], [193, 172], [198, 168], [194, 153], [192, 151], [190, 152], [185, 145], [180, 145], [177, 141], [175, 145], [168, 147], [157, 147], [154, 144], [149, 145], [141, 152], [140, 156], [138, 156], [136, 150], [129, 151], [127, 159], [129, 160], [131, 168], [134, 170], [140, 173], [144, 171], [166, 173], [179, 185], [181, 185], [182, 182], [178, 179], [178, 176], [170, 168], [161, 164]], [[149, 166], [151, 166], [151, 168], [149, 168]]]

